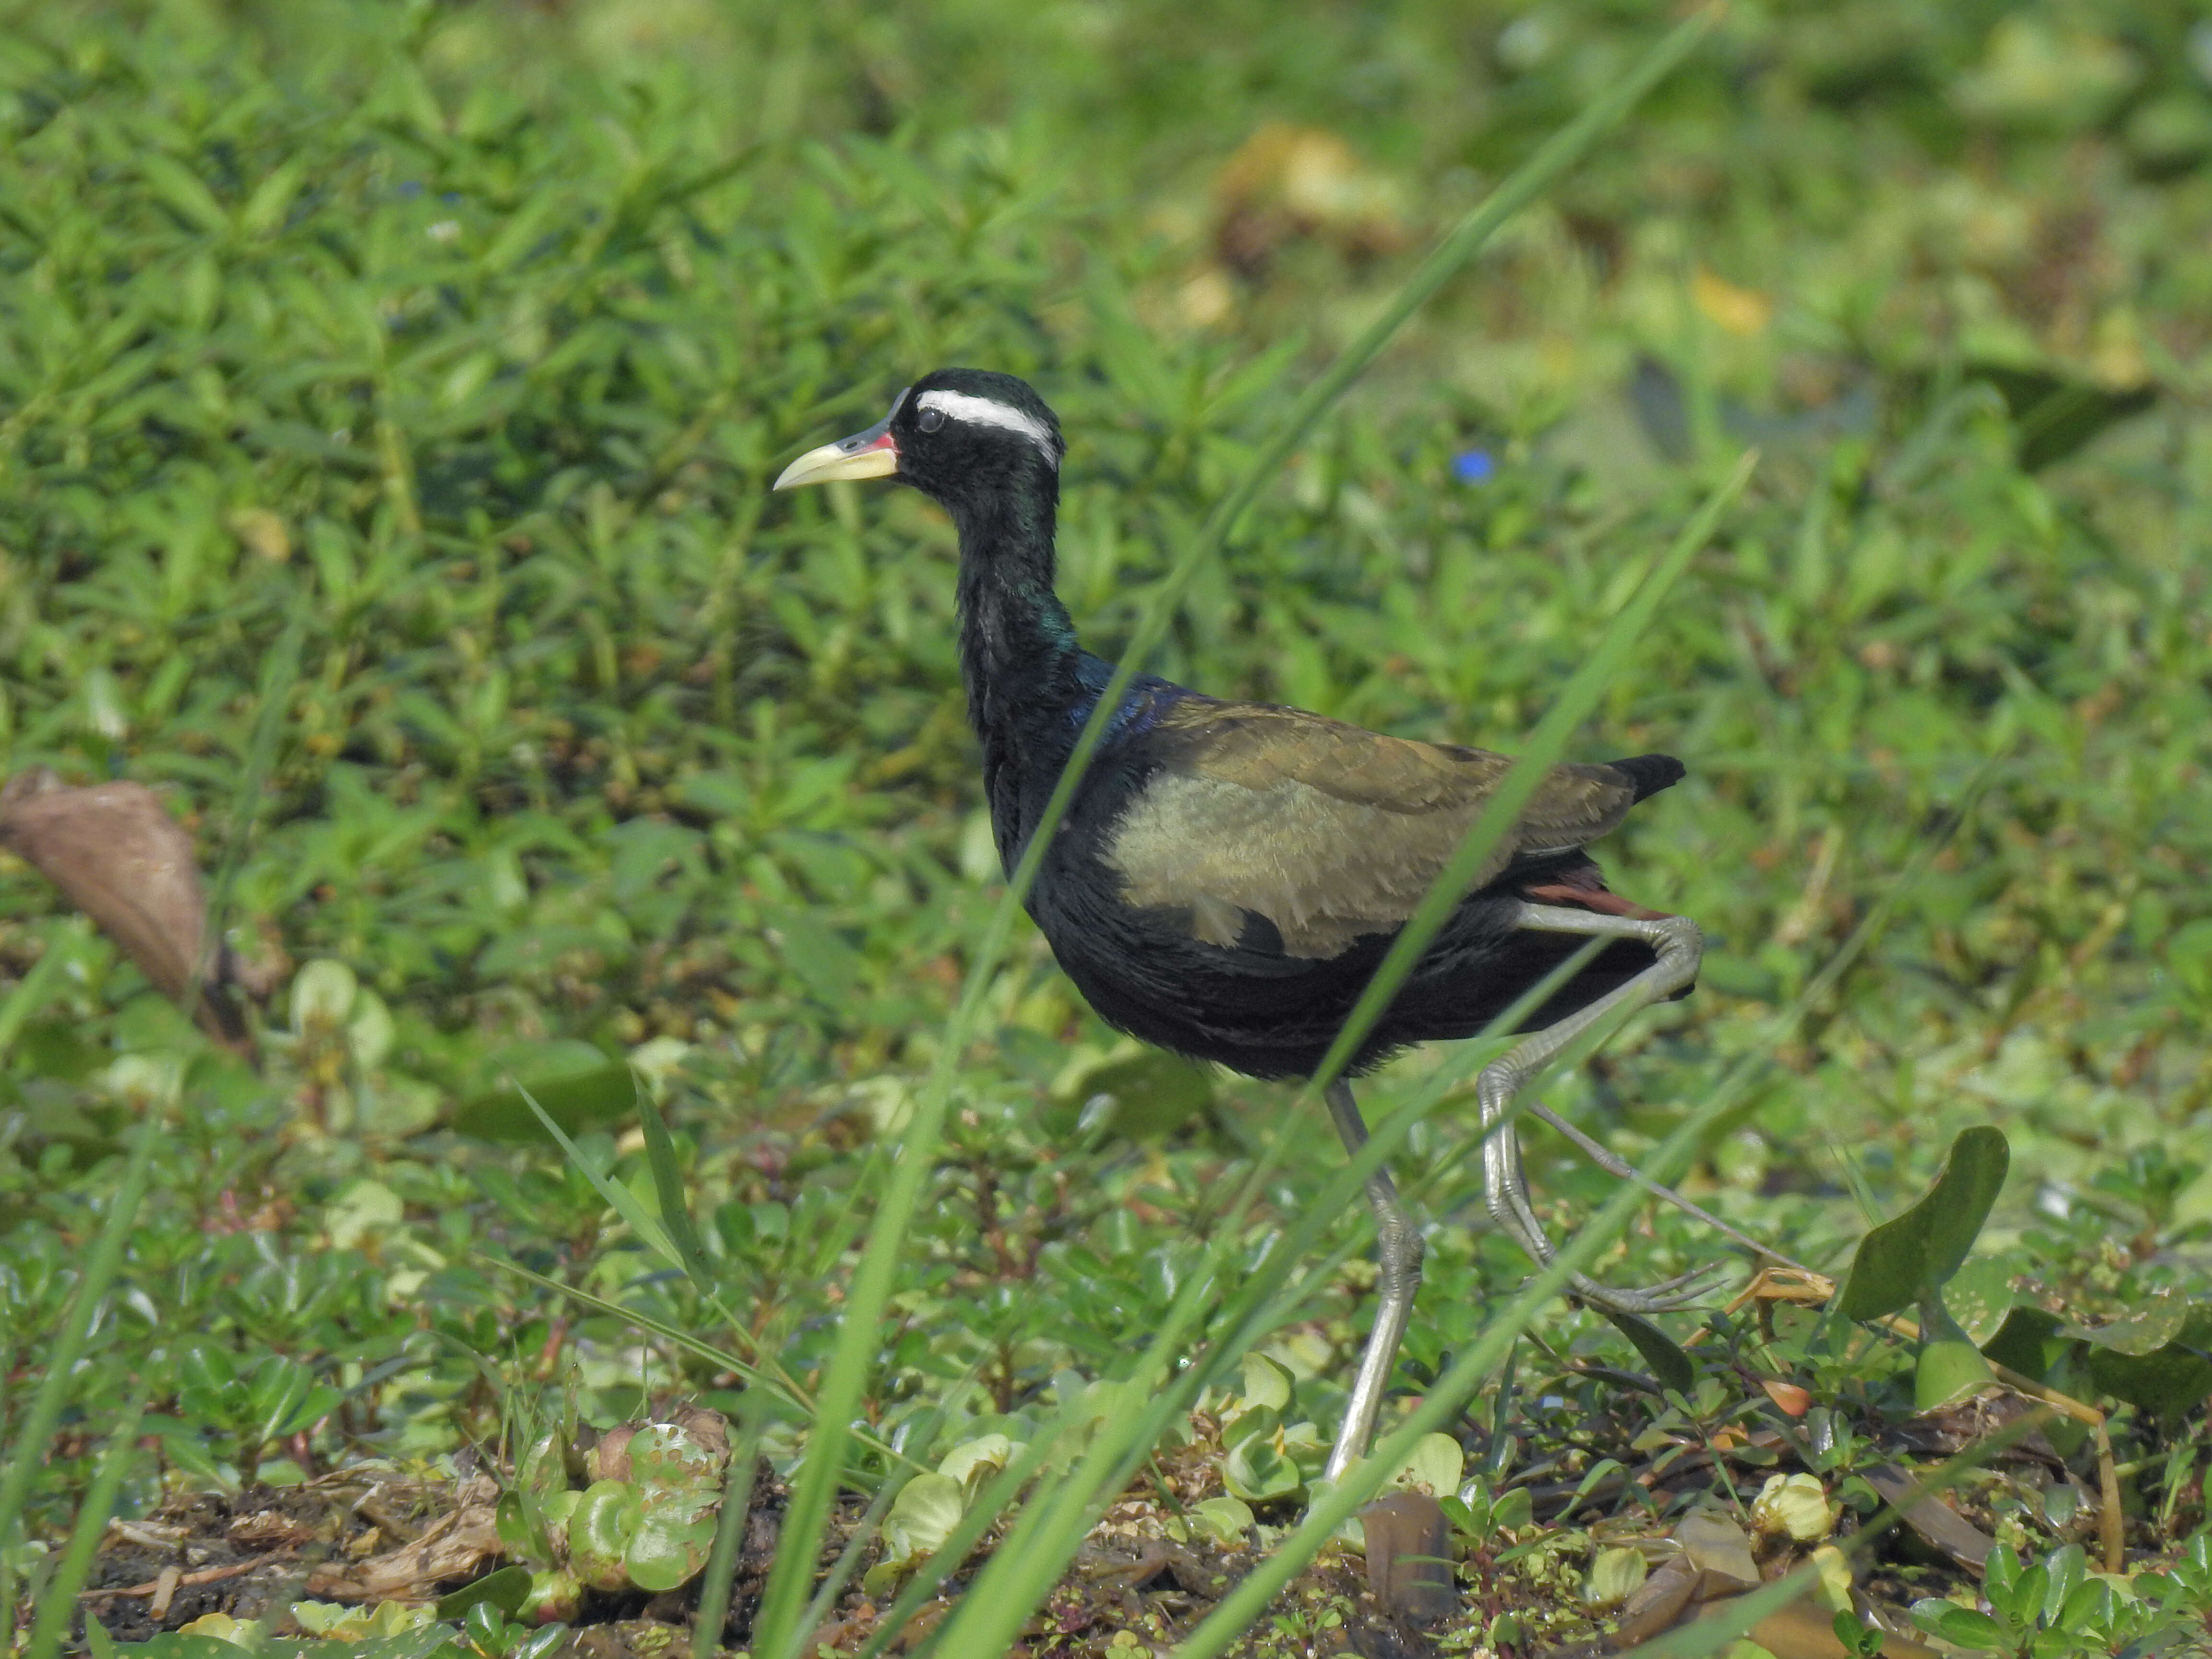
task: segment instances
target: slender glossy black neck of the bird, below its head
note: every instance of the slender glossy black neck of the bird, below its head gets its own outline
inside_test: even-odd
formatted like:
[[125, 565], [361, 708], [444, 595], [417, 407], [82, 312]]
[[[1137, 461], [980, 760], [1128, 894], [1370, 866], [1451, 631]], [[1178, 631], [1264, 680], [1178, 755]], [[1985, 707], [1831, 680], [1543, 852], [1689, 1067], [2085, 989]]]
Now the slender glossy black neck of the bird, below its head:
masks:
[[1075, 624], [1053, 593], [1053, 491], [947, 507], [960, 531], [960, 679], [984, 763], [1040, 763], [1035, 741], [1051, 748], [1082, 697]]

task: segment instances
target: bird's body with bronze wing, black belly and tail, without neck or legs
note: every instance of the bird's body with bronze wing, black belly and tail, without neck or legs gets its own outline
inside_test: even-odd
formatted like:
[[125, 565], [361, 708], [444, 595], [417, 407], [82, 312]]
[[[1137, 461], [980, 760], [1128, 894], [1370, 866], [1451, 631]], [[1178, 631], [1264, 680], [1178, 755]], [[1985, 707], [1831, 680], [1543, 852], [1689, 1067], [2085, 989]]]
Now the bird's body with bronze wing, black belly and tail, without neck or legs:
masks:
[[[1115, 712], [1031, 914], [1108, 1022], [1256, 1077], [1305, 1075], [1509, 768], [1146, 679]], [[1681, 774], [1670, 757], [1553, 768], [1356, 1064], [1484, 1029], [1579, 949], [1515, 929], [1511, 907], [1533, 887], [1540, 902], [1621, 909], [1582, 847]], [[1650, 962], [1610, 945], [1517, 1024], [1564, 1018]]]

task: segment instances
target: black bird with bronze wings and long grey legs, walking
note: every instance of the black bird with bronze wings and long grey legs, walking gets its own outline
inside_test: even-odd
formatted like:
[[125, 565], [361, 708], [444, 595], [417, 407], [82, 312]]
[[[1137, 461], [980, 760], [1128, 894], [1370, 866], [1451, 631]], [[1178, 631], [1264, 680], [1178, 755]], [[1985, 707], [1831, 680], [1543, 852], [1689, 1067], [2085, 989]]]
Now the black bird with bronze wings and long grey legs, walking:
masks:
[[[1060, 420], [1026, 380], [947, 367], [900, 392], [874, 427], [810, 449], [774, 482], [896, 480], [951, 518], [960, 679], [1009, 876], [1115, 672], [1082, 648], [1055, 591], [1064, 458]], [[1024, 902], [1106, 1024], [1248, 1077], [1305, 1079], [1509, 768], [1480, 748], [1135, 675]], [[1513, 1128], [1500, 1121], [1531, 1073], [1584, 1031], [1694, 987], [1697, 922], [1613, 894], [1586, 852], [1681, 776], [1666, 754], [1553, 765], [1323, 1091], [1345, 1150], [1358, 1152], [1367, 1126], [1352, 1077], [1409, 1044], [1484, 1031], [1597, 940], [1475, 1082], [1489, 1130], [1484, 1203], [1540, 1265], [1553, 1245]], [[1635, 1175], [1610, 1155], [1599, 1161]], [[1387, 1170], [1369, 1177], [1367, 1201], [1376, 1318], [1329, 1451], [1332, 1480], [1367, 1455], [1420, 1287], [1422, 1239]], [[1582, 1274], [1571, 1283], [1601, 1312], [1641, 1316], [1679, 1307], [1701, 1276], [1648, 1290]]]

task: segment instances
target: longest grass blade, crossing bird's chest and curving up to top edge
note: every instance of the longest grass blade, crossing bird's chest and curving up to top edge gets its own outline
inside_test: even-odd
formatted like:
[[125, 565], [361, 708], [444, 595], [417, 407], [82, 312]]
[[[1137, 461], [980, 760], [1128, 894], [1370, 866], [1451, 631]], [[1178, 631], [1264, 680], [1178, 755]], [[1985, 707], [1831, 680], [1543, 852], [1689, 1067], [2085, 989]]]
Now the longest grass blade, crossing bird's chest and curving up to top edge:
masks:
[[874, 1365], [876, 1336], [883, 1312], [889, 1303], [894, 1272], [905, 1248], [905, 1234], [920, 1201], [922, 1183], [936, 1159], [945, 1110], [951, 1102], [953, 1068], [967, 1048], [969, 1035], [982, 1009], [991, 978], [1004, 960], [1006, 942], [1013, 936], [1020, 905], [1035, 880], [1044, 847], [1053, 830], [1066, 816], [1091, 757], [1106, 732], [1106, 721], [1119, 706], [1121, 692], [1144, 659], [1166, 635], [1175, 604], [1192, 575], [1212, 557], [1237, 531], [1259, 491], [1274, 476], [1281, 462], [1312, 434], [1323, 414], [1383, 352], [1405, 321], [1436, 294], [1469, 259], [1528, 201], [1540, 197], [1562, 173], [1575, 166], [1630, 108], [1677, 69], [1690, 51], [1705, 38], [1719, 20], [1721, 9], [1708, 7], [1688, 22], [1672, 29], [1650, 53], [1644, 55], [1613, 88], [1593, 100], [1582, 115], [1553, 135], [1526, 164], [1506, 177], [1489, 199], [1484, 199], [1460, 226], [1447, 234], [1422, 261], [1411, 279], [1400, 288], [1389, 307], [1329, 365], [1307, 392], [1292, 405], [1290, 416], [1276, 436], [1259, 451], [1245, 478], [1208, 518], [1199, 535], [1177, 555], [1168, 577], [1152, 593], [1137, 633], [1130, 639], [1121, 664], [1115, 668], [1104, 697], [1091, 712], [1060, 783], [1044, 807], [1044, 816], [1022, 854], [1013, 878], [995, 907], [969, 975], [945, 1029], [929, 1079], [914, 1104], [900, 1159], [891, 1170], [883, 1206], [876, 1212], [876, 1228], [860, 1256], [858, 1272], [845, 1301], [845, 1316], [838, 1343], [821, 1385], [821, 1416], [807, 1440], [805, 1460], [792, 1491], [785, 1515], [783, 1546], [770, 1571], [768, 1595], [763, 1597], [761, 1626], [754, 1650], [768, 1659], [792, 1659], [792, 1646], [807, 1579], [821, 1551], [823, 1528], [830, 1520], [830, 1502], [845, 1467], [845, 1440], [854, 1411], [858, 1411], [867, 1374]]

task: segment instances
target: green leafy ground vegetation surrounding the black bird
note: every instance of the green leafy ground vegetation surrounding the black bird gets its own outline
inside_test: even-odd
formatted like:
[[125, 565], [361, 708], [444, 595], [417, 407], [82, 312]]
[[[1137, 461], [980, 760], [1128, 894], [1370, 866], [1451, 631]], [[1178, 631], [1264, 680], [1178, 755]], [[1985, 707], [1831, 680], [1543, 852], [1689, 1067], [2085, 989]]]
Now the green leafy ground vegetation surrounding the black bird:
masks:
[[[69, 1637], [40, 1590], [91, 1573], [119, 1639], [243, 1621], [170, 1659], [292, 1601], [349, 1652], [544, 1659], [544, 1617], [688, 1641], [668, 1586], [710, 1559], [728, 1646], [816, 1597], [810, 1639], [880, 1650], [958, 1630], [936, 1582], [1018, 1513], [987, 1584], [1040, 1659], [1380, 1617], [1340, 1544], [1223, 1601], [1327, 1502], [1371, 1248], [1334, 1135], [1119, 1042], [1026, 929], [942, 1048], [998, 898], [951, 533], [765, 484], [920, 369], [1024, 374], [1071, 438], [1062, 591], [1117, 650], [1657, 13], [0, 7], [4, 772], [161, 792], [252, 1033], [0, 856], [11, 1641]], [[1900, 1632], [2212, 1617], [2208, 232], [2188, 7], [1743, 4], [1175, 595], [1150, 668], [1517, 750], [1763, 451], [1568, 741], [1690, 763], [1599, 856], [1705, 927], [1703, 982], [1542, 1097], [1825, 1274], [1893, 1219], [1867, 1323], [1504, 1318], [1484, 1051], [1396, 1062], [1363, 1097], [1433, 1223], [1407, 1402], [1482, 1385], [1427, 1391], [1396, 1478], [1462, 1559], [1444, 1646], [1588, 1637], [1694, 1504], [1803, 1559], [1962, 1449], [1986, 1564], [1924, 1511], [1863, 1537]], [[933, 1066], [938, 1157], [878, 1232]], [[1599, 1276], [1719, 1252], [1526, 1139]], [[1577, 1225], [1608, 1201], [1619, 1234]], [[843, 1498], [779, 1577], [869, 1237]], [[1960, 1402], [1991, 1367], [2108, 1420], [2000, 1444]], [[588, 1444], [648, 1420], [637, 1469]], [[1785, 1473], [1816, 1520], [1761, 1495]], [[2106, 1478], [2130, 1575], [2093, 1571]], [[403, 1577], [469, 1504], [489, 1542]], [[111, 1511], [254, 1571], [142, 1595], [181, 1557]], [[538, 1577], [387, 1601], [502, 1559]]]

